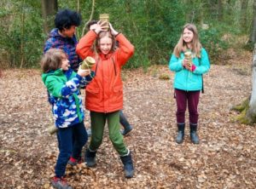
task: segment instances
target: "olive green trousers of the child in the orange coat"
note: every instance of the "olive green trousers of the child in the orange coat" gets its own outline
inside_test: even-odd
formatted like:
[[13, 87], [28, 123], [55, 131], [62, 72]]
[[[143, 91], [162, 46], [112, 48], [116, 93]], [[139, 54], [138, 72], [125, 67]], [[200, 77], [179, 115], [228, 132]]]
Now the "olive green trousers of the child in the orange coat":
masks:
[[119, 111], [110, 113], [90, 112], [90, 150], [96, 151], [101, 146], [106, 121], [108, 122], [109, 138], [114, 149], [119, 152], [120, 156], [127, 155], [128, 149], [125, 146], [124, 137], [119, 131]]

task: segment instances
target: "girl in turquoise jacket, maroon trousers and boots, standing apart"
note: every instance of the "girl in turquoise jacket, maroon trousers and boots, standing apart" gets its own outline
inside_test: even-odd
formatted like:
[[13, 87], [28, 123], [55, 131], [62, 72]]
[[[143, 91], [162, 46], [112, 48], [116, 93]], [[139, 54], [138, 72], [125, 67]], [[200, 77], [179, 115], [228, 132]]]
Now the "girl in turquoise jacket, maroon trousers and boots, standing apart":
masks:
[[181, 37], [173, 51], [169, 68], [175, 72], [173, 88], [177, 102], [177, 139], [181, 144], [184, 138], [185, 112], [189, 109], [190, 138], [199, 144], [196, 134], [200, 91], [203, 89], [202, 75], [210, 69], [210, 61], [206, 49], [199, 41], [198, 32], [193, 24], [183, 26]]

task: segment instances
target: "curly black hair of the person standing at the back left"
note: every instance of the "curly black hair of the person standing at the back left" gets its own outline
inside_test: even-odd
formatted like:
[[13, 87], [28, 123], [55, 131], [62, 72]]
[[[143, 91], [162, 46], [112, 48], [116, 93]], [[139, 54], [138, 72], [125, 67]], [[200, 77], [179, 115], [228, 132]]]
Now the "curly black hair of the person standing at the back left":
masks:
[[55, 27], [60, 31], [69, 29], [71, 26], [79, 26], [81, 24], [82, 16], [76, 11], [70, 9], [60, 10], [55, 15]]

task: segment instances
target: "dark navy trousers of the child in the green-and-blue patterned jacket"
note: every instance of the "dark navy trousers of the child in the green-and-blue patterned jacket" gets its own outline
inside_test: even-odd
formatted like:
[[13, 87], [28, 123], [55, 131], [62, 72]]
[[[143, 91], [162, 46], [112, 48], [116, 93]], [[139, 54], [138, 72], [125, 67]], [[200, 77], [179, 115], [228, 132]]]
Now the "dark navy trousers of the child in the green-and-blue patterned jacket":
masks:
[[82, 148], [88, 140], [84, 122], [77, 123], [72, 127], [58, 129], [59, 156], [55, 166], [55, 175], [61, 177], [65, 174], [67, 162], [72, 156], [78, 159]]

